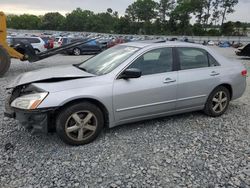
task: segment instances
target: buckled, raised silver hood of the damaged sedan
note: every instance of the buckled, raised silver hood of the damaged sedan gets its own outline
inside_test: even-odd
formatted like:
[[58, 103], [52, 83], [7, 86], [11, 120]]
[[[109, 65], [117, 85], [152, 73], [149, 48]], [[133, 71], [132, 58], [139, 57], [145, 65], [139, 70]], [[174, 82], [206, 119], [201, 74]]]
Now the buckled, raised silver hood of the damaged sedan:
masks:
[[56, 66], [50, 68], [31, 71], [18, 76], [8, 87], [11, 89], [17, 86], [37, 82], [58, 82], [73, 80], [78, 78], [94, 77], [95, 75], [87, 73], [72, 65]]

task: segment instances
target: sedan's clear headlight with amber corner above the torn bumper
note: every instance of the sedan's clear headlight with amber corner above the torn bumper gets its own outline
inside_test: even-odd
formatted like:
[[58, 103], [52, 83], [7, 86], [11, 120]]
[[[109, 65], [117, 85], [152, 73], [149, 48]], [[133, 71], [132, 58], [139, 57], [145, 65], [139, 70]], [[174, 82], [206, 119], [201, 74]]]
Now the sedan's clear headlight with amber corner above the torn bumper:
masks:
[[45, 99], [47, 95], [47, 92], [24, 95], [16, 98], [11, 103], [11, 107], [33, 110], [38, 107], [38, 105]]

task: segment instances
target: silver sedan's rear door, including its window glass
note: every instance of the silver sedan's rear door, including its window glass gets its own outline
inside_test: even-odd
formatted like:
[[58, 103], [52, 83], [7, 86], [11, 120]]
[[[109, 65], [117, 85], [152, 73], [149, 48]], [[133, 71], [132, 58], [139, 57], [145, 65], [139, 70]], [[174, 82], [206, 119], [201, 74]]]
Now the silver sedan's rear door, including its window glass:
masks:
[[218, 62], [204, 49], [176, 48], [179, 62], [177, 110], [203, 106], [220, 83]]

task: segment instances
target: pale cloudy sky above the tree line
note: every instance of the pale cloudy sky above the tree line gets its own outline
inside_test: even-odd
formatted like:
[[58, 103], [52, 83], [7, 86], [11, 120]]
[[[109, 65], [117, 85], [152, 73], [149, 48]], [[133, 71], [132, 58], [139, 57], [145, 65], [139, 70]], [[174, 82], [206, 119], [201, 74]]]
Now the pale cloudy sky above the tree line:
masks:
[[[6, 14], [35, 14], [60, 12], [65, 15], [80, 7], [95, 13], [106, 12], [107, 8], [124, 15], [128, 5], [134, 0], [0, 0], [0, 11]], [[239, 0], [235, 12], [227, 16], [227, 21], [250, 22], [250, 0]]]

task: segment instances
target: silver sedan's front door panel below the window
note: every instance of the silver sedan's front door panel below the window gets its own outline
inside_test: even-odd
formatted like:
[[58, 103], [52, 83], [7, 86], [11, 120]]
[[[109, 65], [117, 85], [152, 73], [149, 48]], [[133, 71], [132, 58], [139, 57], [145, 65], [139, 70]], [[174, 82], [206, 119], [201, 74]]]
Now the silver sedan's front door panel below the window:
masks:
[[[166, 83], [171, 78], [174, 82]], [[124, 89], [126, 88], [126, 89]], [[114, 81], [113, 106], [116, 121], [175, 110], [177, 73], [161, 73], [138, 79]], [[142, 97], [143, 96], [143, 97]]]

